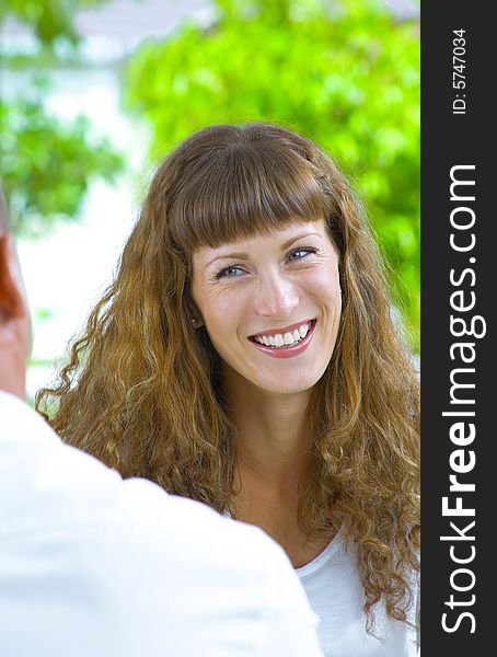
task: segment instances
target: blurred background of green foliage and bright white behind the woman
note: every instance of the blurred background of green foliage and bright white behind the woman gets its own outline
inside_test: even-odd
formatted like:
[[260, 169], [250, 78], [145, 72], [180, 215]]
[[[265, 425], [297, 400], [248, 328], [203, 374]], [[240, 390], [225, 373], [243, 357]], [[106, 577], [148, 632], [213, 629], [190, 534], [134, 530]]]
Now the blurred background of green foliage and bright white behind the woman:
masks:
[[419, 7], [409, 0], [2, 0], [0, 176], [50, 382], [157, 162], [213, 123], [323, 146], [362, 196], [419, 360]]

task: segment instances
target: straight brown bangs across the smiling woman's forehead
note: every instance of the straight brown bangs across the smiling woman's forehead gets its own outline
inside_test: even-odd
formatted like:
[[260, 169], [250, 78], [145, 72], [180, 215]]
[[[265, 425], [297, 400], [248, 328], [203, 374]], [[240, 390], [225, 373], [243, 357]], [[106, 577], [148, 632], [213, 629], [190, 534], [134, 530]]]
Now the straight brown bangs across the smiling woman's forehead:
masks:
[[330, 211], [312, 164], [288, 148], [231, 143], [186, 169], [170, 220], [173, 239], [188, 253], [267, 234], [291, 221], [321, 219]]

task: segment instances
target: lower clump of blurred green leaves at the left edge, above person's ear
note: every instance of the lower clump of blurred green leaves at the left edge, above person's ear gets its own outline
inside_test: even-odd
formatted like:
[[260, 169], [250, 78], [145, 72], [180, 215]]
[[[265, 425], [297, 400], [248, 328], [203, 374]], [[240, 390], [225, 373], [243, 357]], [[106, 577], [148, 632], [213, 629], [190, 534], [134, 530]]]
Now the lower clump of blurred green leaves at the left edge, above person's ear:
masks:
[[16, 234], [41, 237], [74, 220], [92, 176], [113, 180], [123, 166], [106, 140], [91, 142], [84, 117], [71, 123], [36, 101], [0, 102], [0, 171]]

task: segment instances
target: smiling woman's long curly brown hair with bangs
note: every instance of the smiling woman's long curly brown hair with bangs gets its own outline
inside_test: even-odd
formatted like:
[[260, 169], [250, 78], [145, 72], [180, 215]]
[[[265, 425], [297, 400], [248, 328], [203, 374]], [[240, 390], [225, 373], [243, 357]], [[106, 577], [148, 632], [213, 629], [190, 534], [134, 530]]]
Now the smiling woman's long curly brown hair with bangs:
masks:
[[357, 544], [369, 626], [381, 598], [406, 621], [419, 567], [418, 381], [361, 205], [312, 141], [254, 123], [182, 142], [155, 172], [114, 283], [36, 403], [67, 442], [125, 477], [230, 509], [234, 427], [218, 356], [190, 321], [192, 254], [310, 218], [325, 218], [338, 249], [343, 315], [308, 408], [315, 454], [299, 523], [311, 539], [339, 528]]

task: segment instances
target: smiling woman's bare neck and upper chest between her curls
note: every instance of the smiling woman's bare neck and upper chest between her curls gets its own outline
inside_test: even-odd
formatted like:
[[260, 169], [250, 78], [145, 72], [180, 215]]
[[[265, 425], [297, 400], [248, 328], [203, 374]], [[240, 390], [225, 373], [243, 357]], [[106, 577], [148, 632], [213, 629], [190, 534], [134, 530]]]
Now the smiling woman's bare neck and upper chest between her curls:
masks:
[[234, 372], [223, 384], [236, 429], [234, 517], [266, 531], [293, 566], [307, 564], [332, 538], [327, 532], [310, 542], [298, 522], [299, 484], [313, 449], [307, 423], [311, 392], [269, 393]]

